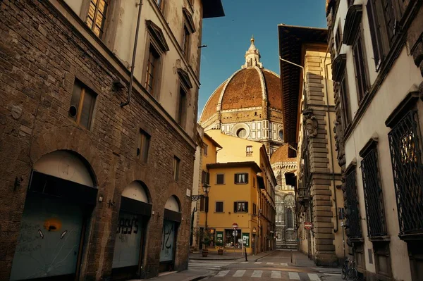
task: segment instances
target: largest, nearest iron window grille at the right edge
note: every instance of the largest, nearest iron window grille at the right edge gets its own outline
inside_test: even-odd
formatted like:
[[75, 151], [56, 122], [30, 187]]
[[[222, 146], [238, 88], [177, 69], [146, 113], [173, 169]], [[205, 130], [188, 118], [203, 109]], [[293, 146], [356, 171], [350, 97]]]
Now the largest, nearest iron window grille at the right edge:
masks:
[[417, 111], [388, 133], [400, 235], [423, 233], [423, 166]]

